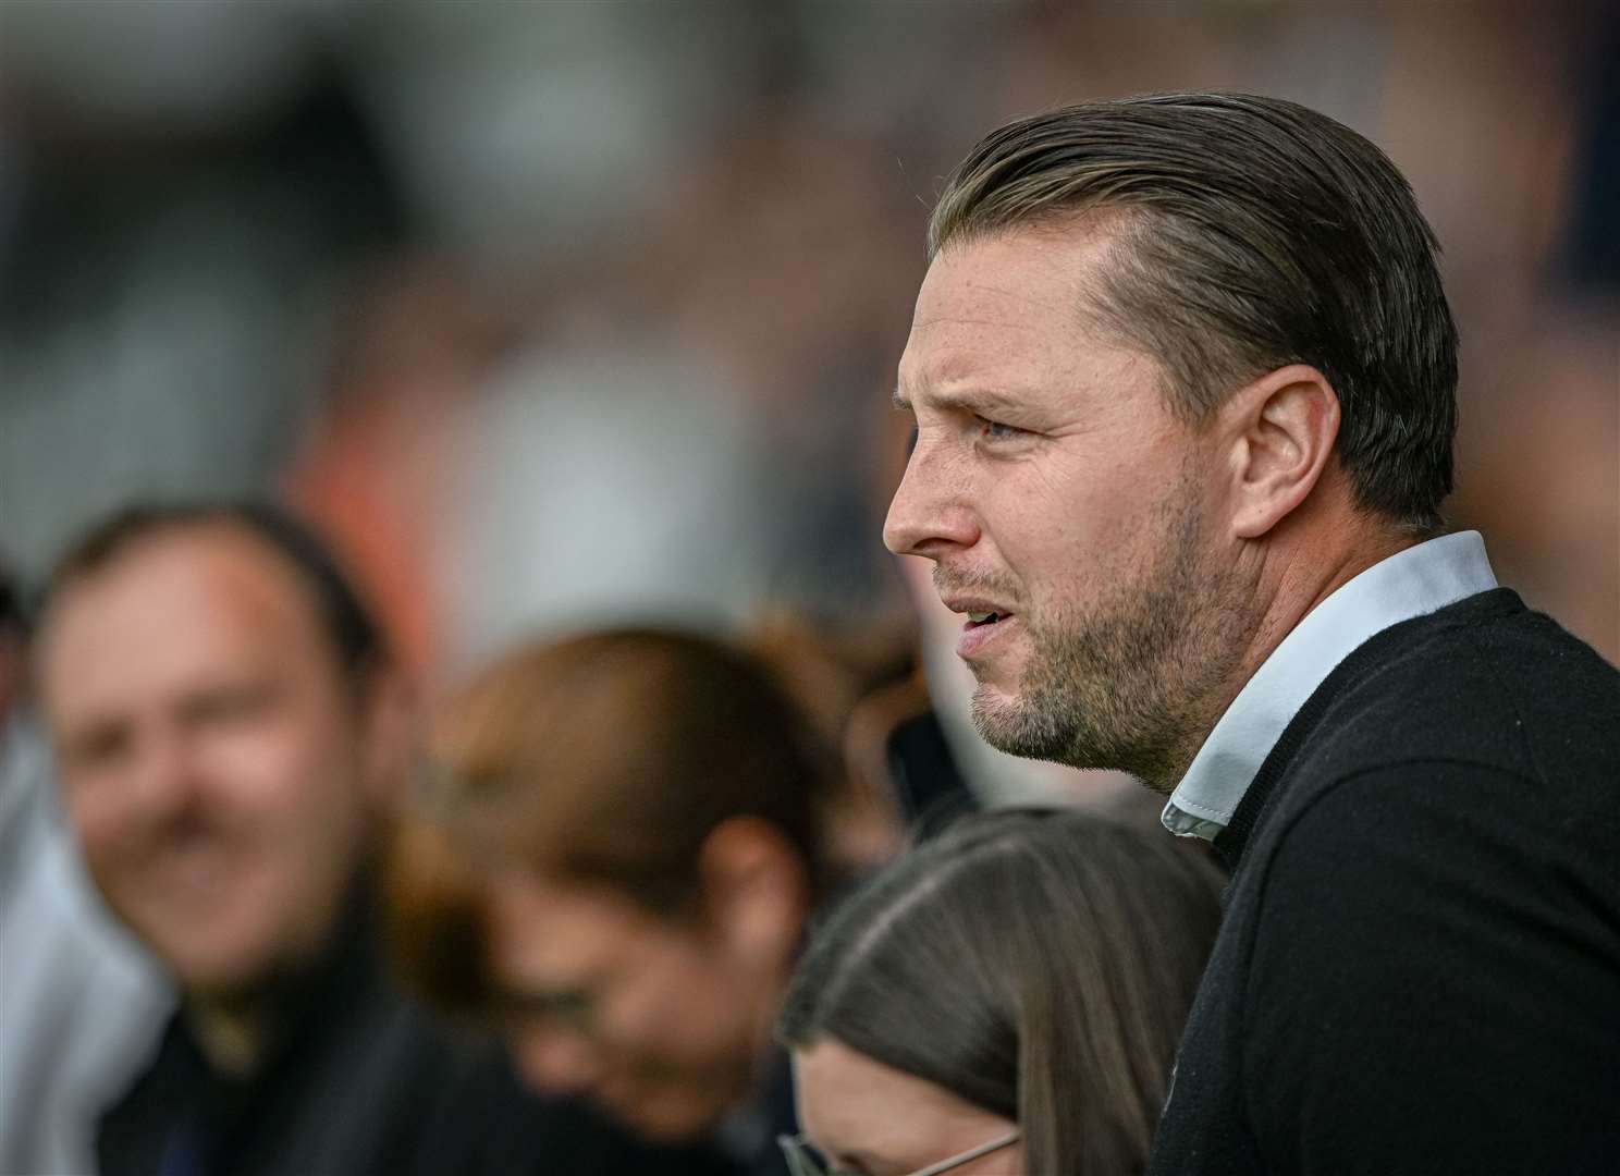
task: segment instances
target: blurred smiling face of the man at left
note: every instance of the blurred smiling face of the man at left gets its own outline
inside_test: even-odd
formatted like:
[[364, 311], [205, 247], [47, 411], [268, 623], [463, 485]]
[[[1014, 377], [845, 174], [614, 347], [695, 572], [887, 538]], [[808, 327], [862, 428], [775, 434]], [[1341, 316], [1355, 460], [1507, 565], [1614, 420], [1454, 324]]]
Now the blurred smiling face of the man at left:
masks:
[[369, 718], [309, 591], [227, 523], [70, 586], [40, 687], [109, 905], [190, 993], [248, 993], [326, 943], [373, 831]]

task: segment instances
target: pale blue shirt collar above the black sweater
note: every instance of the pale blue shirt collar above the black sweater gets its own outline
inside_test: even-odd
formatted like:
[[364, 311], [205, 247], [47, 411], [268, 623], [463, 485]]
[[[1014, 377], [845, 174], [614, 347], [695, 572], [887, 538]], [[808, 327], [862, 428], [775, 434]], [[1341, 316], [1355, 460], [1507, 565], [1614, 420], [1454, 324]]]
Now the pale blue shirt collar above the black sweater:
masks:
[[1479, 531], [1406, 548], [1341, 585], [1306, 614], [1233, 698], [1165, 805], [1165, 828], [1179, 837], [1213, 839], [1290, 719], [1338, 663], [1390, 625], [1495, 586]]

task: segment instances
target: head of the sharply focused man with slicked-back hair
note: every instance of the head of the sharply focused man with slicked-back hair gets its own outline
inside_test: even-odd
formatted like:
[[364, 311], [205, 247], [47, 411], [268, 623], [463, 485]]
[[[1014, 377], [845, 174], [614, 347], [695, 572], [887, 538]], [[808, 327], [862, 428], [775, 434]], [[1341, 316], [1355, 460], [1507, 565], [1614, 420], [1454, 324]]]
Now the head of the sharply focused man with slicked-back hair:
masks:
[[1440, 528], [1435, 253], [1390, 160], [1290, 102], [1089, 104], [969, 154], [930, 225], [885, 538], [993, 620], [959, 646], [990, 742], [1163, 779], [1267, 593]]

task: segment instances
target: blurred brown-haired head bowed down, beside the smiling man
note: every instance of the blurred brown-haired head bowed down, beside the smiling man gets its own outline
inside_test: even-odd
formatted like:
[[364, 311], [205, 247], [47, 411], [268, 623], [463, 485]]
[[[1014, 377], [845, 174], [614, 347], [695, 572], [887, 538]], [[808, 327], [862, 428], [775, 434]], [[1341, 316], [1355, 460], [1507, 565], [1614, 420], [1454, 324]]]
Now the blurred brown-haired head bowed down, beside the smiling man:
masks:
[[773, 674], [653, 630], [535, 645], [436, 755], [394, 904], [429, 999], [650, 1137], [745, 1103], [825, 873], [825, 756]]

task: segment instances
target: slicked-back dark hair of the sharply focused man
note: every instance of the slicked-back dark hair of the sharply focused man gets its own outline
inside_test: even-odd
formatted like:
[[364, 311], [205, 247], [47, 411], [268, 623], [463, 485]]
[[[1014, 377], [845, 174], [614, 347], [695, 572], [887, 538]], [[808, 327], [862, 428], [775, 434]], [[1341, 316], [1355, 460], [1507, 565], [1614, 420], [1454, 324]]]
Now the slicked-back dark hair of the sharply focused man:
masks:
[[1372, 143], [1293, 102], [1150, 94], [1009, 123], [949, 177], [928, 256], [1014, 228], [1111, 233], [1081, 306], [1166, 376], [1202, 421], [1230, 392], [1304, 363], [1340, 398], [1356, 505], [1442, 528], [1456, 434], [1456, 326], [1439, 243]]

